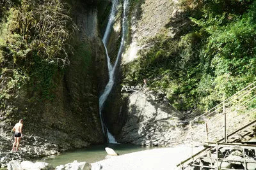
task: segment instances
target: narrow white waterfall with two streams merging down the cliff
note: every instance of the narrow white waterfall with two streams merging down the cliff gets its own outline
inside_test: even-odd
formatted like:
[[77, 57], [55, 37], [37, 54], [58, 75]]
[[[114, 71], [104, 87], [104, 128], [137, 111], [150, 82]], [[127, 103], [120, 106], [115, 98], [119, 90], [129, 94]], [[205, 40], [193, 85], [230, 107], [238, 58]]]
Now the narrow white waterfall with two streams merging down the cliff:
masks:
[[128, 23], [127, 22], [127, 8], [128, 8], [129, 0], [124, 0], [124, 16], [123, 16], [123, 20], [122, 20], [122, 41], [121, 41], [120, 48], [118, 50], [118, 55], [116, 57], [115, 64], [112, 67], [111, 62], [110, 62], [110, 58], [109, 58], [109, 55], [108, 55], [108, 48], [106, 46], [107, 46], [109, 34], [110, 34], [111, 29], [113, 27], [113, 24], [115, 22], [117, 4], [118, 4], [118, 0], [113, 0], [112, 1], [111, 14], [110, 14], [110, 17], [109, 17], [109, 21], [108, 21], [106, 31], [104, 33], [104, 37], [102, 39], [104, 47], [106, 49], [106, 55], [107, 55], [107, 60], [108, 60], [109, 81], [108, 81], [108, 84], [106, 85], [106, 87], [104, 89], [104, 92], [102, 93], [102, 95], [100, 96], [100, 99], [99, 99], [100, 122], [101, 122], [101, 125], [102, 125], [102, 131], [107, 136], [109, 143], [116, 143], [116, 140], [112, 136], [112, 134], [108, 131], [108, 128], [104, 124], [104, 119], [102, 118], [102, 109], [103, 109], [104, 103], [105, 103], [105, 101], [106, 101], [106, 99], [107, 99], [107, 97], [108, 97], [109, 93], [111, 92], [112, 87], [114, 85], [115, 69], [116, 69], [116, 66], [118, 65], [118, 63], [120, 61], [120, 58], [121, 58], [122, 52], [123, 52], [123, 48], [124, 48], [125, 35], [127, 34], [127, 30], [128, 30], [127, 29], [128, 28], [128, 25], [127, 25], [127, 23]]

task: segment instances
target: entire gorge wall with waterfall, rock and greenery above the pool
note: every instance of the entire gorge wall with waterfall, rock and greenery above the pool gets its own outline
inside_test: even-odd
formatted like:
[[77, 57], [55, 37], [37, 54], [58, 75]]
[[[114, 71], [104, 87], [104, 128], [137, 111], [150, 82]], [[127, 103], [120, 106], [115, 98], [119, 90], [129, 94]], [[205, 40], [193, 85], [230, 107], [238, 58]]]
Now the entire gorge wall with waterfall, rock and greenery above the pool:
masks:
[[[105, 143], [189, 143], [195, 117], [256, 81], [255, 8], [252, 0], [1, 1], [0, 167]], [[229, 132], [254, 121], [255, 93], [193, 128], [205, 138], [202, 125], [225, 111], [236, 124]], [[20, 118], [20, 152], [9, 153]]]

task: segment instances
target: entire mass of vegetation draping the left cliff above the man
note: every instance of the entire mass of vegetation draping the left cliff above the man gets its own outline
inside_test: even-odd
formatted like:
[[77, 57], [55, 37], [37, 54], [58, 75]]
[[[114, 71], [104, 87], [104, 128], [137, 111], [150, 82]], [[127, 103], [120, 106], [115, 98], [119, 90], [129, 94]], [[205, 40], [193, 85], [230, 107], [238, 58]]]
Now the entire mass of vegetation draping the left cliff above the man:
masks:
[[8, 115], [22, 87], [28, 102], [54, 98], [77, 28], [68, 4], [58, 0], [4, 0], [0, 18], [0, 114]]

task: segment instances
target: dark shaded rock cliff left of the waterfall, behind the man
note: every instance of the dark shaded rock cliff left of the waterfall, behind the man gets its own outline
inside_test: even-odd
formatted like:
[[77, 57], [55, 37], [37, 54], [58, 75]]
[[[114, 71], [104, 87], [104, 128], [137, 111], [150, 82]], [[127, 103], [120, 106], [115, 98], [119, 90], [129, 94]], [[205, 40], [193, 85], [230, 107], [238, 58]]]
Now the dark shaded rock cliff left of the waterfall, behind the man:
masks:
[[[111, 3], [107, 0], [67, 3], [71, 7], [70, 17], [77, 27], [72, 40], [73, 53], [68, 54], [70, 63], [57, 67], [49, 77], [52, 89], [47, 93], [51, 97], [45, 98], [44, 91], [36, 89], [40, 80], [28, 80], [15, 89], [17, 96], [3, 98], [0, 110], [1, 151], [11, 150], [13, 134], [10, 129], [20, 118], [24, 118], [25, 136], [21, 150], [30, 150], [36, 156], [49, 155], [52, 153], [50, 150], [64, 151], [104, 143], [100, 128], [99, 94], [108, 80], [108, 67], [100, 29], [104, 27], [104, 20], [108, 19], [105, 15], [109, 13]], [[5, 33], [1, 32], [1, 35], [5, 36]], [[0, 89], [5, 92], [16, 68], [9, 67], [7, 62], [2, 62], [1, 66], [10, 72], [2, 72], [1, 75]], [[37, 85], [31, 88], [31, 83]], [[48, 147], [50, 145], [54, 145], [53, 148]], [[35, 147], [44, 150], [36, 152]]]

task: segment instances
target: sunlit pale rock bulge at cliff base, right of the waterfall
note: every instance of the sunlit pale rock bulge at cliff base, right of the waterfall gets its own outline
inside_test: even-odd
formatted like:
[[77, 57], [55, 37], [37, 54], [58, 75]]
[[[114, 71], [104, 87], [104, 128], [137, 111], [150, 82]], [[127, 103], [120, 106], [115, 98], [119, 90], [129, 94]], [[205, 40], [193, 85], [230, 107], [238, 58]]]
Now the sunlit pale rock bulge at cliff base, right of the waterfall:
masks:
[[150, 92], [129, 96], [127, 121], [117, 140], [136, 145], [162, 146], [183, 143], [186, 120], [168, 102]]

